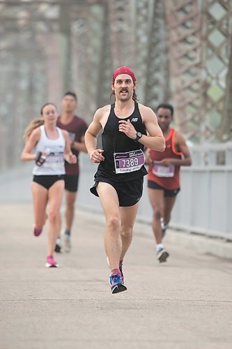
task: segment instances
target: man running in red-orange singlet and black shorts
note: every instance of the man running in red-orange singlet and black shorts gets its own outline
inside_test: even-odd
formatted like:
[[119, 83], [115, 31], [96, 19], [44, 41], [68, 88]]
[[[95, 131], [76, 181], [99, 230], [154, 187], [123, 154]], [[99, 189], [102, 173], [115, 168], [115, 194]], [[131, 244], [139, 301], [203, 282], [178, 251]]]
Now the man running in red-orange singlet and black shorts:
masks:
[[180, 166], [192, 164], [190, 151], [181, 133], [170, 127], [173, 106], [162, 103], [157, 107], [157, 121], [162, 129], [166, 149], [161, 154], [148, 149], [148, 196], [153, 208], [153, 232], [157, 244], [157, 258], [166, 262], [169, 253], [164, 250], [162, 237], [171, 218], [171, 210], [180, 191]]

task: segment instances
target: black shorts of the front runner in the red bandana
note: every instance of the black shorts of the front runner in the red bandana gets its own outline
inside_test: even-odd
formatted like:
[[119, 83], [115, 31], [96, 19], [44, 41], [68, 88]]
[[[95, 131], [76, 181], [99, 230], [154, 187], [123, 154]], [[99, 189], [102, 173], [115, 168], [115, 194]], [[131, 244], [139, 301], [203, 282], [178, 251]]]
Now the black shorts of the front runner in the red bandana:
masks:
[[95, 180], [94, 186], [90, 189], [93, 195], [98, 196], [98, 192], [96, 187], [99, 182], [105, 182], [113, 186], [118, 194], [118, 201], [120, 207], [129, 207], [135, 205], [141, 199], [141, 195], [143, 194], [143, 184], [144, 177], [139, 179], [133, 179], [132, 181], [122, 181], [116, 182], [108, 177], [101, 177]]

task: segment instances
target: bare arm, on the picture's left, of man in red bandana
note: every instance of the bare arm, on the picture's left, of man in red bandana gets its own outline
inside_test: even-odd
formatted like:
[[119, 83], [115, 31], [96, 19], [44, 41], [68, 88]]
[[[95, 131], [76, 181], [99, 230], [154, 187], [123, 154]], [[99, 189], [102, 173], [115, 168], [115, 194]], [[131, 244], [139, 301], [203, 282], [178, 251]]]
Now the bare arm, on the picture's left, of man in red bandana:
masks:
[[84, 136], [84, 140], [86, 142], [86, 149], [93, 163], [100, 163], [101, 161], [105, 160], [104, 156], [102, 156], [103, 150], [96, 149], [97, 137], [100, 131], [102, 130], [102, 124], [100, 123], [101, 118], [102, 108], [98, 109], [95, 112], [93, 121], [88, 126], [86, 134]]

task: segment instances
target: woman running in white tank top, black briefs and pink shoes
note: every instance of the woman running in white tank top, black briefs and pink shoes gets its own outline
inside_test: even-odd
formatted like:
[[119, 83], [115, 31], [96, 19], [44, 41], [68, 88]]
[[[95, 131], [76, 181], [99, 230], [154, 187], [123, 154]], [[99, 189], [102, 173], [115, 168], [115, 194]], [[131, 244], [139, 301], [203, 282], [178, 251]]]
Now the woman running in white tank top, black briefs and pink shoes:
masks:
[[[48, 251], [46, 267], [58, 267], [53, 254], [59, 235], [60, 209], [64, 190], [64, 161], [76, 163], [72, 154], [68, 132], [56, 127], [58, 113], [56, 105], [46, 103], [40, 111], [40, 119], [31, 121], [25, 131], [26, 144], [22, 161], [35, 161], [31, 191], [35, 227], [33, 234], [38, 237], [47, 218], [49, 202]], [[33, 151], [35, 149], [35, 151]]]

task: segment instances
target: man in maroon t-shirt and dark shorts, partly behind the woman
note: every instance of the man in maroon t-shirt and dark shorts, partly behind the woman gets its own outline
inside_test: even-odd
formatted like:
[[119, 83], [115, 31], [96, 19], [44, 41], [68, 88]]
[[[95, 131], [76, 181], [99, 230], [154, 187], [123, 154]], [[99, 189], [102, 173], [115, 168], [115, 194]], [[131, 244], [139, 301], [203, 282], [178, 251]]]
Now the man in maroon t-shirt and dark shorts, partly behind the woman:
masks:
[[[68, 91], [63, 96], [62, 100], [62, 114], [57, 120], [57, 126], [63, 130], [68, 131], [70, 147], [73, 154], [79, 156], [79, 151], [86, 152], [84, 144], [84, 133], [87, 125], [84, 119], [75, 115], [77, 108], [77, 95]], [[79, 179], [79, 163], [70, 164], [65, 162], [65, 231], [64, 249], [65, 252], [71, 251], [70, 235], [72, 230], [72, 223], [75, 216], [75, 201], [77, 199], [77, 188]], [[61, 252], [61, 235], [56, 240], [56, 252]]]

